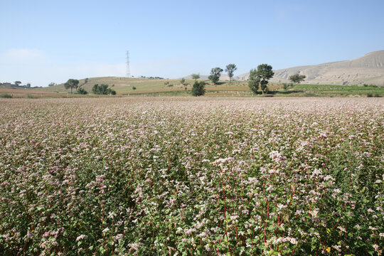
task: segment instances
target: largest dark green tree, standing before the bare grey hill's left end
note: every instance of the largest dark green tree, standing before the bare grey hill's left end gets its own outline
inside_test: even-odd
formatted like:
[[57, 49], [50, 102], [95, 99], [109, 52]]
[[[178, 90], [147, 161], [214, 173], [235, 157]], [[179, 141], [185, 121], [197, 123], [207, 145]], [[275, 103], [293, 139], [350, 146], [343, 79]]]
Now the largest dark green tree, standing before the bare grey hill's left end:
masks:
[[274, 75], [272, 71], [272, 66], [267, 64], [261, 64], [257, 66], [257, 69], [250, 70], [250, 78], [248, 80], [248, 86], [252, 92], [257, 93], [259, 86], [264, 94], [267, 92], [268, 80], [270, 80]]

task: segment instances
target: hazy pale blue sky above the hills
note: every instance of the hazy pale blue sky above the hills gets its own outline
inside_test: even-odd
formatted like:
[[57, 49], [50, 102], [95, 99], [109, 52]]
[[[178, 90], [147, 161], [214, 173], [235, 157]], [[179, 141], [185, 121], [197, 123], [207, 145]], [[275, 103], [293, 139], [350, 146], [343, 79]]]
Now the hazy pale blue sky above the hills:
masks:
[[274, 69], [384, 50], [384, 1], [0, 0], [0, 82], [181, 78]]

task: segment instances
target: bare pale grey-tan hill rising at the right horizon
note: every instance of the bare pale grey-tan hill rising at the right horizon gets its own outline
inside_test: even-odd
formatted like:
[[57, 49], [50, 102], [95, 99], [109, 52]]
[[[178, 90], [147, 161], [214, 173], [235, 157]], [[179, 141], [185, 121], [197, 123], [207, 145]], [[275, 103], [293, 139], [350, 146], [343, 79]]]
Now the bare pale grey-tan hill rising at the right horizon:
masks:
[[[319, 65], [305, 65], [274, 70], [272, 82], [288, 82], [289, 75], [306, 75], [303, 83], [321, 85], [384, 85], [384, 50], [363, 55], [353, 60]], [[249, 73], [236, 76], [235, 80], [247, 80]]]

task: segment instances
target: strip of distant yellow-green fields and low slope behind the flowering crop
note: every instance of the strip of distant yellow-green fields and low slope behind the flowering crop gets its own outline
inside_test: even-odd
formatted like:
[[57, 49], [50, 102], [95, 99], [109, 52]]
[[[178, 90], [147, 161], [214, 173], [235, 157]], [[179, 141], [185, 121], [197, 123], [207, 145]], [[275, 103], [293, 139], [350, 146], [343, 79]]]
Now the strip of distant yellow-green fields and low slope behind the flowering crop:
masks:
[[[79, 85], [88, 92], [92, 92], [95, 84], [107, 84], [117, 92], [117, 96], [128, 95], [191, 95], [194, 80], [186, 80], [186, 85], [181, 85], [179, 79], [143, 78], [89, 78], [88, 82], [80, 80]], [[356, 85], [294, 85], [284, 90], [282, 83], [270, 83], [270, 94], [253, 95], [247, 86], [247, 81], [220, 81], [218, 85], [206, 81], [207, 96], [236, 96], [236, 97], [383, 97], [384, 87], [363, 87]], [[134, 90], [135, 88], [135, 90]], [[11, 93], [14, 97], [95, 97], [95, 95], [70, 95], [70, 90], [65, 90], [64, 85], [43, 87], [38, 89], [8, 89], [0, 88], [2, 93]]]

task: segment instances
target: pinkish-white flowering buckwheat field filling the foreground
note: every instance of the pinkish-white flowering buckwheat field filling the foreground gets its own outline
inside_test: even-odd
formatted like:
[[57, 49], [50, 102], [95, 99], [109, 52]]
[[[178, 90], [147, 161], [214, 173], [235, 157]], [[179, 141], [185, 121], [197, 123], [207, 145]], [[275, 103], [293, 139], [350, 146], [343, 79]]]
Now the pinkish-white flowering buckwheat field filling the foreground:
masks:
[[1, 255], [382, 255], [384, 100], [0, 99]]

